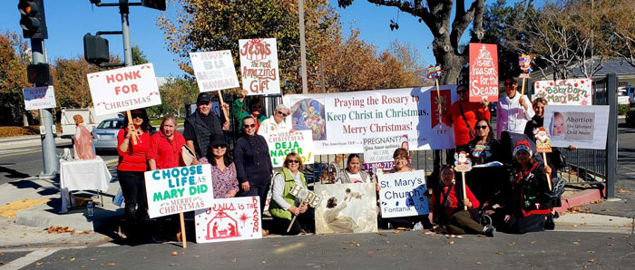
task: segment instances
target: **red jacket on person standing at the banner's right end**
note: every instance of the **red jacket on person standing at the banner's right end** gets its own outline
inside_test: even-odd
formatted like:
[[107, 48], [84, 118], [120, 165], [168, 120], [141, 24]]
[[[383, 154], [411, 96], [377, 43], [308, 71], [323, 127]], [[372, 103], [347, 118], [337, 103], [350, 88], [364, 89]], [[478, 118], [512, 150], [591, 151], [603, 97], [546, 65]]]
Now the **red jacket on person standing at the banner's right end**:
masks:
[[[459, 108], [459, 102], [463, 106], [463, 111], [465, 114], [465, 119], [470, 124], [472, 130], [474, 130], [474, 124], [479, 119], [490, 120], [490, 111], [487, 109], [483, 109], [483, 105], [480, 102], [462, 102], [456, 101], [452, 106], [450, 106], [450, 110], [446, 111], [442, 115], [442, 120], [448, 126], [454, 128], [454, 145], [462, 146], [466, 145], [470, 142], [470, 130], [465, 126], [465, 121], [461, 116], [461, 108]], [[474, 130], [476, 132], [476, 130]]]

